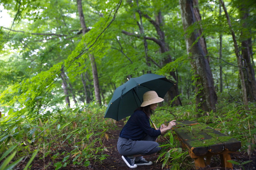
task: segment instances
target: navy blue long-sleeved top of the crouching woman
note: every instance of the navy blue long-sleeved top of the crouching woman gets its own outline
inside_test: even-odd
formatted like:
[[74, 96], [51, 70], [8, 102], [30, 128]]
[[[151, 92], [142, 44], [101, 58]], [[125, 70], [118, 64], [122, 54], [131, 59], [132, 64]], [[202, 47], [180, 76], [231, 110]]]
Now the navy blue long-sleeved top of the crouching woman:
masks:
[[152, 128], [148, 116], [142, 110], [137, 110], [124, 125], [119, 137], [142, 140], [145, 134], [156, 137], [161, 135], [161, 131]]

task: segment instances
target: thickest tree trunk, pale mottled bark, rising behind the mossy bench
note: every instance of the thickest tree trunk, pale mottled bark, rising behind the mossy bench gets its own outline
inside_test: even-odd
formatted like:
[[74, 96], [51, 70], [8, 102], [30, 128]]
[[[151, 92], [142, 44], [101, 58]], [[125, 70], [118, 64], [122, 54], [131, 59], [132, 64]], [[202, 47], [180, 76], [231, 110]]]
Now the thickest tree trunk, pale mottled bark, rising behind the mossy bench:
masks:
[[[181, 18], [184, 31], [196, 21], [200, 21], [199, 10], [194, 7], [193, 0], [179, 0], [181, 8]], [[191, 34], [185, 34], [186, 47], [191, 57], [191, 65], [195, 71], [196, 81], [196, 108], [203, 111], [216, 111], [217, 95], [214, 89], [212, 71], [209, 61], [205, 58], [207, 52], [206, 43], [203, 40], [197, 41], [200, 31], [194, 30]], [[196, 42], [197, 41], [197, 42]], [[196, 43], [195, 43], [196, 42]], [[195, 43], [193, 45], [193, 43]]]

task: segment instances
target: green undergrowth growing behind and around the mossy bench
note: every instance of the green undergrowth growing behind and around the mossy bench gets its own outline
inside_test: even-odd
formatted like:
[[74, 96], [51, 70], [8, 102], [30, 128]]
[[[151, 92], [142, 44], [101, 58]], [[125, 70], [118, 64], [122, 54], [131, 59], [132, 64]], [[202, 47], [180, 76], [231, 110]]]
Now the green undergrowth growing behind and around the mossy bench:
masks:
[[[247, 152], [250, 157], [252, 151], [256, 148], [256, 115], [254, 114], [256, 112], [256, 103], [249, 105], [250, 110], [244, 110], [243, 108], [242, 105], [238, 105], [235, 102], [229, 105], [219, 106], [217, 112], [210, 113], [196, 112], [194, 105], [159, 107], [155, 115], [152, 116], [152, 120], [153, 122], [158, 122], [157, 126], [159, 127], [163, 123], [167, 125], [174, 119], [177, 121], [189, 120], [206, 124], [221, 133], [241, 141], [242, 147], [238, 152]], [[171, 138], [170, 141], [172, 142]], [[168, 166], [171, 169], [179, 169], [179, 163], [177, 162], [179, 159], [176, 160], [175, 156], [172, 155], [175, 152], [179, 153], [179, 149], [176, 150], [175, 148], [177, 147], [174, 147], [172, 143], [162, 145], [162, 147], [166, 149], [170, 148], [167, 150], [168, 152], [165, 151], [161, 153], [161, 157], [158, 158], [158, 160], [161, 159], [163, 161], [163, 167]], [[183, 153], [184, 155], [181, 156], [182, 159], [188, 155], [188, 152]], [[192, 161], [192, 159], [190, 161]], [[248, 166], [250, 166], [250, 162], [251, 161], [236, 163], [236, 165], [239, 164], [241, 168], [244, 168], [242, 165], [248, 163]], [[180, 169], [185, 170], [186, 168], [182, 166]]]

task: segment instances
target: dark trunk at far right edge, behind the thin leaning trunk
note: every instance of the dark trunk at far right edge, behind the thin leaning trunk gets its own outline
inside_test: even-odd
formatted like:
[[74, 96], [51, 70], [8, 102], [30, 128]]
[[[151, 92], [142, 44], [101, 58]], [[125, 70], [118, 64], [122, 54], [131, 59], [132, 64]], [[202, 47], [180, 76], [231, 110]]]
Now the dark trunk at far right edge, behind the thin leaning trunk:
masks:
[[[246, 20], [247, 17], [249, 17], [249, 10], [242, 8], [241, 9], [241, 19]], [[246, 23], [243, 24], [243, 27], [245, 30], [248, 29], [246, 26]], [[247, 31], [247, 33], [250, 33], [250, 30]], [[245, 81], [245, 88], [247, 93], [247, 98], [249, 100], [256, 100], [256, 80], [255, 80], [255, 74], [254, 69], [251, 62], [251, 42], [252, 37], [249, 37], [244, 33], [244, 31], [241, 31], [241, 39], [242, 39], [242, 58], [244, 59], [244, 68], [246, 70], [243, 70], [244, 72], [244, 81]]]

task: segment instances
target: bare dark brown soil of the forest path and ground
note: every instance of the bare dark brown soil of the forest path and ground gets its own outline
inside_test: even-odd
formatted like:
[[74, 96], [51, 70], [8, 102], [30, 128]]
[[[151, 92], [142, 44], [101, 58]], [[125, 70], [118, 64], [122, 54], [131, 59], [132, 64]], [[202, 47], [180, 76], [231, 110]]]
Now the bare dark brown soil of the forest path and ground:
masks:
[[[119, 137], [119, 133], [120, 133], [121, 129], [123, 128], [123, 126], [124, 126], [123, 122], [118, 122], [116, 130], [112, 130], [112, 131], [107, 132], [109, 138], [108, 138], [108, 140], [105, 140], [105, 142], [104, 142], [104, 146], [107, 148], [107, 150], [104, 151], [104, 154], [107, 154], [109, 156], [107, 157], [107, 159], [104, 159], [102, 161], [102, 163], [100, 163], [98, 161], [94, 162], [93, 160], [90, 160], [91, 164], [87, 167], [81, 166], [81, 165], [73, 165], [71, 163], [71, 164], [68, 164], [66, 167], [61, 167], [60, 170], [128, 170], [128, 169], [131, 170], [131, 168], [129, 168], [124, 163], [123, 159], [121, 158], [122, 155], [120, 155], [118, 153], [117, 147], [116, 147], [117, 140], [118, 140], [118, 137]], [[159, 139], [160, 139], [160, 141], [158, 141], [158, 142], [163, 142], [163, 140], [164, 140], [161, 137]], [[64, 148], [64, 149], [66, 151], [71, 150], [71, 148]], [[138, 166], [135, 169], [136, 170], [162, 169], [162, 162], [160, 162], [160, 161], [156, 162], [159, 154], [160, 153], [155, 153], [153, 155], [144, 156], [144, 158], [146, 160], [152, 161], [153, 165]], [[255, 150], [251, 153], [250, 159], [249, 159], [249, 156], [248, 156], [247, 152], [235, 152], [235, 153], [231, 153], [230, 155], [231, 155], [231, 159], [236, 161], [236, 162], [245, 162], [245, 161], [248, 161], [248, 160], [252, 160], [250, 165], [249, 164], [243, 165], [244, 170], [256, 170], [256, 152], [255, 152]], [[191, 165], [191, 168], [188, 169], [188, 170], [194, 170], [195, 166], [194, 166], [193, 159], [191, 159], [190, 157], [188, 157], [188, 159], [190, 159], [190, 165]], [[55, 160], [56, 160], [56, 162], [57, 161], [61, 162], [62, 158], [60, 158], [59, 160], [58, 159], [55, 159]], [[32, 162], [32, 164], [31, 164], [32, 166], [31, 166], [30, 169], [32, 169], [32, 170], [43, 170], [43, 169], [45, 169], [45, 170], [54, 170], [55, 169], [55, 167], [53, 166], [53, 163], [52, 163], [52, 159], [49, 156], [45, 157], [45, 162], [46, 163], [44, 164], [43, 160], [39, 159], [39, 156], [38, 156]], [[70, 162], [72, 162], [72, 161], [70, 161]], [[14, 170], [21, 170], [26, 166], [26, 164], [27, 164], [27, 161], [20, 162], [20, 164], [18, 166], [16, 166], [14, 168]], [[49, 164], [51, 164], [51, 165], [48, 166], [47, 168], [44, 168], [45, 165], [49, 165]], [[205, 168], [201, 168], [199, 170], [225, 170], [225, 168], [222, 168], [220, 165], [221, 165], [220, 158], [219, 158], [218, 155], [216, 155], [216, 156], [212, 156], [210, 165], [208, 165]], [[249, 167], [248, 167], [248, 165], [249, 165]], [[234, 168], [234, 170], [242, 170], [243, 169], [242, 166], [235, 165], [235, 164], [233, 164], [233, 168]], [[163, 169], [166, 169], [166, 168], [163, 168]]]

